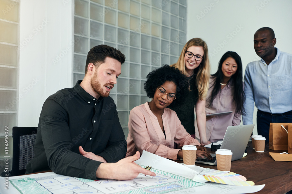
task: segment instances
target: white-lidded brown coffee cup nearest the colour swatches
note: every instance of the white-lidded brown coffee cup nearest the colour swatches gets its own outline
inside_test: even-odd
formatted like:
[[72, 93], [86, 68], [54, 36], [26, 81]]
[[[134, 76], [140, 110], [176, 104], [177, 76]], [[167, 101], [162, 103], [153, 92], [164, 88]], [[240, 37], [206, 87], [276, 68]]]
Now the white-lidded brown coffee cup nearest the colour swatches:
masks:
[[230, 172], [232, 152], [230, 149], [217, 149], [215, 152], [217, 169]]

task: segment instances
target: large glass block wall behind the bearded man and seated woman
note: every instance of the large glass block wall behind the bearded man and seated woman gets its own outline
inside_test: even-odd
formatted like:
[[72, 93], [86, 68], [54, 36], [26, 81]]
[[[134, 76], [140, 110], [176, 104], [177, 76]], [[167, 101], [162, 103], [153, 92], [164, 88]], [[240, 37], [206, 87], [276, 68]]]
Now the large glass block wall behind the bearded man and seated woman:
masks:
[[150, 101], [146, 76], [176, 63], [186, 43], [186, 0], [75, 0], [73, 85], [83, 79], [88, 51], [100, 44], [125, 56], [110, 96], [128, 136], [131, 109]]

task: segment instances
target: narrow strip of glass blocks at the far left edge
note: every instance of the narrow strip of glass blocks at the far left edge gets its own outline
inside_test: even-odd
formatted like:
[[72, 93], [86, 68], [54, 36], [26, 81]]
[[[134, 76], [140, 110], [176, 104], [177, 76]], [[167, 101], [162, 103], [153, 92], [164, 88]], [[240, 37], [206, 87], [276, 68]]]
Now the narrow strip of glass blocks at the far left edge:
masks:
[[[18, 95], [19, 1], [1, 0], [0, 8], [0, 172], [3, 172], [3, 156], [12, 157], [12, 127], [17, 124], [18, 101], [21, 98]], [[7, 145], [8, 154], [4, 152]]]

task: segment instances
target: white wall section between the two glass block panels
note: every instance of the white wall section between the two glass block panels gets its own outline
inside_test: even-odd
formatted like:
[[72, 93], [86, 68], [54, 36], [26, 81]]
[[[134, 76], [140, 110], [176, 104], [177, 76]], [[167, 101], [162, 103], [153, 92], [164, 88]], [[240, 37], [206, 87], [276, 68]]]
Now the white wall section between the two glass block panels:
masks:
[[72, 10], [71, 0], [20, 2], [18, 126], [37, 126], [46, 98], [72, 87]]

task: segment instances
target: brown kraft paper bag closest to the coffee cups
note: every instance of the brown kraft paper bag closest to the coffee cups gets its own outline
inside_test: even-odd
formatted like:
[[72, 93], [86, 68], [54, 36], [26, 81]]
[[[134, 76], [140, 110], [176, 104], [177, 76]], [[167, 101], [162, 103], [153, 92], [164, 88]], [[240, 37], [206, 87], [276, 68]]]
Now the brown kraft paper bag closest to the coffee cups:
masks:
[[288, 150], [288, 134], [281, 127], [283, 125], [288, 130], [288, 124], [292, 123], [270, 123], [269, 149]]

